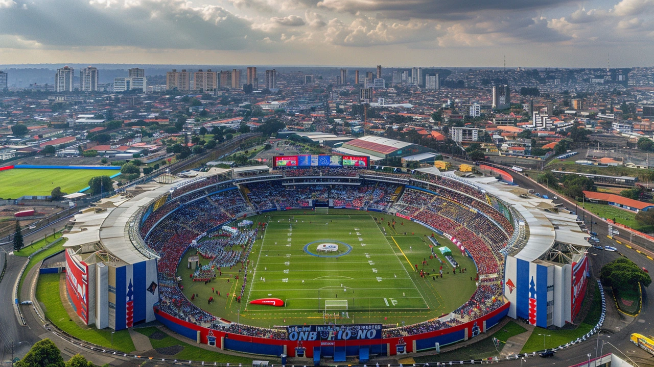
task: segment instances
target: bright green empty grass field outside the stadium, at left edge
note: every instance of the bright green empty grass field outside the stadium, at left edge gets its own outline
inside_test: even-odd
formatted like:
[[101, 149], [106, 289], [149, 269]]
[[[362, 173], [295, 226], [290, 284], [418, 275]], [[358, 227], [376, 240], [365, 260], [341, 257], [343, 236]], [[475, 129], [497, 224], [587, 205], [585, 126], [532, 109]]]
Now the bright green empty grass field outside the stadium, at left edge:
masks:
[[113, 176], [119, 170], [73, 170], [57, 168], [14, 168], [0, 172], [0, 198], [50, 195], [59, 186], [63, 193], [75, 193], [95, 176]]

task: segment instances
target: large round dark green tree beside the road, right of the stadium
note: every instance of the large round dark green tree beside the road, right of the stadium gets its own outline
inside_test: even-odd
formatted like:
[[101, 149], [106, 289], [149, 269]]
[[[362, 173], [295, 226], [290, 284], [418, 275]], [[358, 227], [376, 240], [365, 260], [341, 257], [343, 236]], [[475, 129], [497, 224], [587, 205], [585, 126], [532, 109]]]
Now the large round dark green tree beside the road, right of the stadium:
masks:
[[638, 283], [643, 287], [648, 287], [652, 282], [649, 274], [626, 257], [619, 257], [602, 266], [600, 280], [613, 289], [627, 292], [638, 291]]

